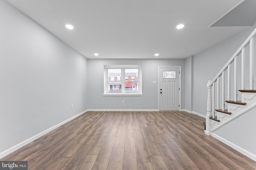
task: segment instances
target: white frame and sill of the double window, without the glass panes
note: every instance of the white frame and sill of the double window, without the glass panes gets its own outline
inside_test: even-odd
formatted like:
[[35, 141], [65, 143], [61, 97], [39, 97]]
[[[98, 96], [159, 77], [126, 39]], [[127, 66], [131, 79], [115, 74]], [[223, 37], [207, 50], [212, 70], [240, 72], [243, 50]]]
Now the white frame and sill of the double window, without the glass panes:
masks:
[[[108, 69], [122, 69], [122, 93], [108, 93]], [[138, 68], [139, 77], [139, 92], [138, 93], [125, 93], [125, 69]], [[104, 94], [103, 96], [143, 96], [142, 94], [142, 70], [140, 65], [104, 65]]]

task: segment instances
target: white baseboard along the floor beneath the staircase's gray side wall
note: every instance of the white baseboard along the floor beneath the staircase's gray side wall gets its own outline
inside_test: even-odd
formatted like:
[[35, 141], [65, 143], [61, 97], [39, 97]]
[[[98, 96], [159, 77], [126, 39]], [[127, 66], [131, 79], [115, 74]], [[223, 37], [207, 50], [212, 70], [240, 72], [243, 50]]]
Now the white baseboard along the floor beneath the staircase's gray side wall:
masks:
[[[207, 133], [206, 133], [207, 134]], [[248, 150], [245, 150], [237, 145], [235, 145], [234, 143], [224, 139], [223, 137], [220, 137], [219, 135], [216, 135], [215, 133], [209, 132], [209, 134], [207, 135], [211, 135], [212, 137], [218, 139], [219, 141], [221, 141], [222, 143], [225, 143], [226, 145], [228, 145], [229, 147], [237, 150], [238, 152], [244, 154], [245, 156], [251, 158], [252, 160], [256, 161], [256, 155], [249, 152]]]

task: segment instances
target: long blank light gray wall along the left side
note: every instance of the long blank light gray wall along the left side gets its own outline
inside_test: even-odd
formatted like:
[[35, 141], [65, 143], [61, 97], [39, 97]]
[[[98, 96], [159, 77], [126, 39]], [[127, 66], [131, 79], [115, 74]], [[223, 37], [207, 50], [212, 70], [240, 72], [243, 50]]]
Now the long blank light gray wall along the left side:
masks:
[[0, 23], [2, 152], [87, 109], [87, 59], [3, 0]]

